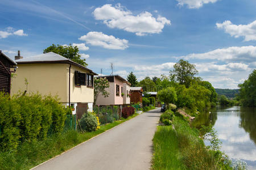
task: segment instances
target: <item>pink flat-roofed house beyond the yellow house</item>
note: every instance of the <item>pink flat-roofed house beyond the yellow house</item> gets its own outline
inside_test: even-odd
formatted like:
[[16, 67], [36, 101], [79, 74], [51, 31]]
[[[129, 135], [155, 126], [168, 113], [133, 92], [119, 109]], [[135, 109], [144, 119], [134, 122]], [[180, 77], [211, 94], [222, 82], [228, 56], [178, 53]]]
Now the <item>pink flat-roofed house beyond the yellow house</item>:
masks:
[[[97, 78], [106, 78], [109, 81], [109, 88], [107, 91], [109, 92], [108, 97], [104, 97], [102, 95], [98, 96], [96, 101], [96, 105], [123, 105], [123, 101], [125, 104], [128, 104], [127, 92], [129, 93], [130, 89], [129, 84], [126, 85], [126, 79], [122, 78], [119, 75], [107, 75], [107, 76], [97, 76]], [[125, 97], [125, 100], [123, 99]], [[129, 100], [130, 101], [130, 100]], [[129, 102], [130, 104], [130, 102]]]

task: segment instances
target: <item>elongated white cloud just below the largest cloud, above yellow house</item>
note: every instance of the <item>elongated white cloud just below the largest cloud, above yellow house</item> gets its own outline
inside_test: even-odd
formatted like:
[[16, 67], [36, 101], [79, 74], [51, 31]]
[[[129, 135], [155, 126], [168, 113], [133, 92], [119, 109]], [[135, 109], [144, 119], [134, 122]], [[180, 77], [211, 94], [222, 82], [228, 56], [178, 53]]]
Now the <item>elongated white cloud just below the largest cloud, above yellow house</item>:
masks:
[[105, 35], [102, 32], [88, 32], [81, 36], [79, 40], [85, 41], [87, 44], [102, 46], [106, 49], [126, 49], [128, 48], [128, 40], [118, 39], [112, 35]]

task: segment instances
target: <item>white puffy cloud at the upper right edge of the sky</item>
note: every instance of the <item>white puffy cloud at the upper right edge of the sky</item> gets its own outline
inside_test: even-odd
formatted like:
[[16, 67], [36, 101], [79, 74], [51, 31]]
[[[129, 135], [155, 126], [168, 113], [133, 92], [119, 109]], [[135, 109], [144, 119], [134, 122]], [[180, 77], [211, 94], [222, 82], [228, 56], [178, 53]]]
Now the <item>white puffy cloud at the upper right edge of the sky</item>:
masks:
[[256, 40], [256, 20], [247, 25], [236, 25], [232, 24], [230, 20], [225, 20], [223, 23], [216, 23], [216, 26], [235, 38], [245, 37], [245, 41]]

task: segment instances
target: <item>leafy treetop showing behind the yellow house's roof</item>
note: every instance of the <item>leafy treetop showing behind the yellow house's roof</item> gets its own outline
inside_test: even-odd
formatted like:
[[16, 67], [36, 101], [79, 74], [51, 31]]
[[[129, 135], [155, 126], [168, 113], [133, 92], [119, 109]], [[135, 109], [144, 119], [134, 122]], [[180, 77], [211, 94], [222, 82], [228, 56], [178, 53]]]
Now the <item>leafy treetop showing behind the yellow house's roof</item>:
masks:
[[68, 46], [52, 44], [48, 48], [44, 49], [44, 53], [49, 52], [53, 52], [65, 58], [71, 59], [73, 62], [79, 63], [82, 66], [86, 67], [88, 65], [85, 62], [85, 59], [81, 58], [81, 54], [79, 53], [79, 48], [77, 46], [72, 46], [71, 44]]

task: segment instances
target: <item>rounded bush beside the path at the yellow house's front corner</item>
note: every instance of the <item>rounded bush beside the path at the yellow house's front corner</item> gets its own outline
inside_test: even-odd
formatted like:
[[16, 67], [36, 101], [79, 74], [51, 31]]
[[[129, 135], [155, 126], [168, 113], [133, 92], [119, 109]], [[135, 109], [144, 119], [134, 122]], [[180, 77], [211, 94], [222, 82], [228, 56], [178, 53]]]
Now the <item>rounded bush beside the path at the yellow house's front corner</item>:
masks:
[[82, 130], [86, 130], [88, 132], [96, 131], [98, 126], [97, 118], [92, 113], [83, 114], [80, 120], [80, 125]]

